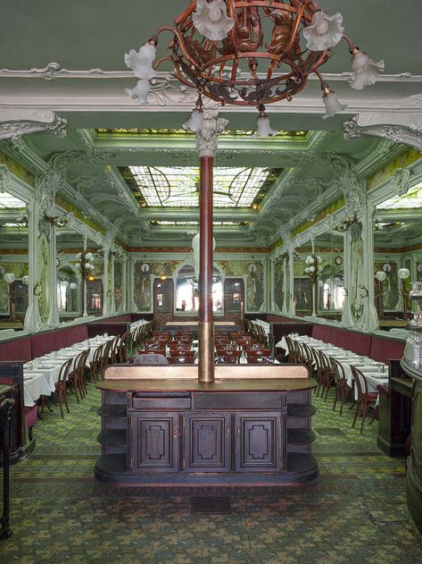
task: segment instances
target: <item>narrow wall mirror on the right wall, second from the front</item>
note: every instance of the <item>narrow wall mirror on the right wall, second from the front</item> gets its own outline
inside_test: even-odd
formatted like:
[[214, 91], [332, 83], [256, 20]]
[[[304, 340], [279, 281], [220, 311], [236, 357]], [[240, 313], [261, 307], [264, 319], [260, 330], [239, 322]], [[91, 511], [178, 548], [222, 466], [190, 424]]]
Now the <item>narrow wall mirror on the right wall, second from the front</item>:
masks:
[[315, 239], [317, 315], [339, 320], [344, 301], [343, 233], [327, 231]]

